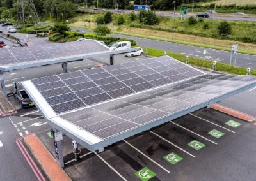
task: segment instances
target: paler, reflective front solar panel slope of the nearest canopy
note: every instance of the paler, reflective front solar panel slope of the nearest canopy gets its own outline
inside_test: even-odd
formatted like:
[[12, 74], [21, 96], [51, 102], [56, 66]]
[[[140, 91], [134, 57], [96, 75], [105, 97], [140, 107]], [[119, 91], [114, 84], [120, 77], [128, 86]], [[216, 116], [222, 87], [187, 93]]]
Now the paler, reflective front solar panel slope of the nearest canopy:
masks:
[[103, 140], [256, 83], [255, 76], [201, 75], [61, 115]]

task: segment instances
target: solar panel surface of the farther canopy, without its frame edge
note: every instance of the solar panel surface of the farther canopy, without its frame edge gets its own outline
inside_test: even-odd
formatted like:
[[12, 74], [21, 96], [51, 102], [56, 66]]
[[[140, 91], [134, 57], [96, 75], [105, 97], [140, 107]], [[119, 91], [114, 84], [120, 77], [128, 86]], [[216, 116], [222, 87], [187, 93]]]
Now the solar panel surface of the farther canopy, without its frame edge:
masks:
[[109, 48], [95, 40], [6, 48], [0, 50], [0, 65], [56, 59], [104, 51], [109, 51]]

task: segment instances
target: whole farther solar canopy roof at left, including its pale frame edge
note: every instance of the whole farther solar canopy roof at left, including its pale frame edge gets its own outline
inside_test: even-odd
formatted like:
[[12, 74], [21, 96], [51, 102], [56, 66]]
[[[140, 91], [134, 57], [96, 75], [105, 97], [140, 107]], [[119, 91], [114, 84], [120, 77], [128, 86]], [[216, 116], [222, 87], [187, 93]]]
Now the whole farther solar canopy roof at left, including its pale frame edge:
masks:
[[10, 71], [131, 51], [132, 48], [129, 50], [112, 51], [109, 47], [102, 45], [102, 43], [96, 40], [7, 48], [0, 50], [0, 70]]

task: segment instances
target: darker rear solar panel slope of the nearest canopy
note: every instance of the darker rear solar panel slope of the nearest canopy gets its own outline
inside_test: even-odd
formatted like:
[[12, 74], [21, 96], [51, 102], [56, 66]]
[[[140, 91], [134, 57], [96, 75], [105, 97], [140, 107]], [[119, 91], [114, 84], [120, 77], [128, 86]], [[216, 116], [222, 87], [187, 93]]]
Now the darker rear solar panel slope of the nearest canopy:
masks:
[[203, 74], [164, 56], [31, 82], [59, 114]]

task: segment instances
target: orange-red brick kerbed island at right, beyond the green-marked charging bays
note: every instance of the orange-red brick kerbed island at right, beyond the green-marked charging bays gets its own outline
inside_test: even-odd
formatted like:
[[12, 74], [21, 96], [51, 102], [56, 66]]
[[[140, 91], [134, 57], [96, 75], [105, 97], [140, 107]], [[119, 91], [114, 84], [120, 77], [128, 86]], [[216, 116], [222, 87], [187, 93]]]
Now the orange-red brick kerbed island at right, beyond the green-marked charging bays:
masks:
[[237, 110], [233, 110], [232, 108], [227, 108], [225, 106], [222, 106], [222, 105], [219, 105], [219, 104], [216, 104], [216, 103], [212, 104], [210, 107], [214, 110], [218, 110], [220, 112], [227, 113], [228, 115], [232, 115], [232, 116], [237, 117], [239, 119], [243, 119], [247, 122], [253, 122], [254, 120], [256, 120], [256, 118], [253, 117], [252, 115], [248, 115], [246, 113], [242, 113], [242, 112], [239, 112]]

